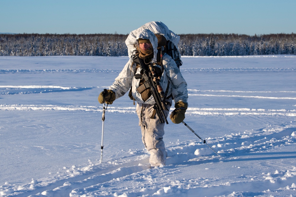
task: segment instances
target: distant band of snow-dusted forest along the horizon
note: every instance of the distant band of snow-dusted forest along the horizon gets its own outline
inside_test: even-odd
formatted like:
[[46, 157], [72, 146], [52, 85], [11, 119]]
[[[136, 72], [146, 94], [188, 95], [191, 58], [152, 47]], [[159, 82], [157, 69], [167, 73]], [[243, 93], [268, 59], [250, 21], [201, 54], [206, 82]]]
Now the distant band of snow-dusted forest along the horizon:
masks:
[[[128, 56], [121, 34], [0, 34], [0, 56]], [[181, 34], [182, 56], [296, 55], [296, 35]]]

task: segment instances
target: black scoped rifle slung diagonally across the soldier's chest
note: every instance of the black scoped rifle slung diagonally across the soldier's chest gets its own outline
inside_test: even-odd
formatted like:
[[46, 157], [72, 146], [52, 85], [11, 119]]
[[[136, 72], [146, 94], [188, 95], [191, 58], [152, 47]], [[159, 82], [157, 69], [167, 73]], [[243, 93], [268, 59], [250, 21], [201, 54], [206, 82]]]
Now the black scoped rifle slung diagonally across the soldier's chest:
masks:
[[150, 91], [155, 100], [154, 109], [160, 119], [160, 123], [166, 122], [168, 124], [168, 120], [165, 116], [164, 110], [168, 111], [165, 105], [165, 93], [163, 92], [163, 88], [160, 86], [160, 77], [157, 76], [155, 69], [152, 64], [148, 65], [148, 69], [146, 68], [146, 64], [144, 60], [139, 58], [139, 55], [134, 55], [131, 57], [132, 60], [139, 64], [141, 69], [144, 71], [144, 74], [136, 74], [136, 79], [143, 79], [144, 89], [150, 88]]

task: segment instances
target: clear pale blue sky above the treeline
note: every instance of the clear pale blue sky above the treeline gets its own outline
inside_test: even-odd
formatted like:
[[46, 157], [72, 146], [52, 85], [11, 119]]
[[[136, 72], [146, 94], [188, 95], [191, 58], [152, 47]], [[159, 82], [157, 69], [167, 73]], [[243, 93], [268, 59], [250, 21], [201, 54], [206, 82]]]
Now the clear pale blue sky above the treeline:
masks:
[[128, 34], [161, 21], [176, 34], [296, 33], [296, 0], [0, 0], [0, 32]]

